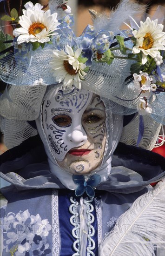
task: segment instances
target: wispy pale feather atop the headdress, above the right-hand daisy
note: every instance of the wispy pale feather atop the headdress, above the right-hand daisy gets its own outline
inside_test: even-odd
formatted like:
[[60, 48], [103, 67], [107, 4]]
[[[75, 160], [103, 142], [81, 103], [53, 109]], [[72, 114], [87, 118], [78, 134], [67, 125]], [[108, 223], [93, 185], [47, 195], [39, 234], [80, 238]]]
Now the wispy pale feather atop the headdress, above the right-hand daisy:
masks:
[[105, 18], [105, 14], [93, 21], [95, 32], [105, 29], [112, 31], [114, 34], [119, 31], [121, 25], [124, 24], [129, 17], [135, 17], [139, 13], [143, 14], [145, 12], [144, 6], [139, 6], [138, 8], [133, 7], [132, 1], [121, 1], [114, 11], [110, 14], [110, 17]]

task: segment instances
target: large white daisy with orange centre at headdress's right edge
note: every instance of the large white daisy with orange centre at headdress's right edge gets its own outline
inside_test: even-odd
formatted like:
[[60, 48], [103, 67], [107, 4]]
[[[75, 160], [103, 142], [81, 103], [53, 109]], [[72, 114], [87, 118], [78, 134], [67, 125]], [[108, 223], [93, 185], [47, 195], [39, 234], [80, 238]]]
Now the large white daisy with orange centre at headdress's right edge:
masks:
[[147, 55], [155, 58], [160, 54], [159, 50], [165, 50], [165, 33], [163, 25], [158, 24], [158, 19], [150, 20], [147, 17], [145, 22], [140, 21], [139, 30], [133, 30], [132, 34], [137, 39], [132, 53], [139, 54], [142, 51], [142, 64], [147, 62]]

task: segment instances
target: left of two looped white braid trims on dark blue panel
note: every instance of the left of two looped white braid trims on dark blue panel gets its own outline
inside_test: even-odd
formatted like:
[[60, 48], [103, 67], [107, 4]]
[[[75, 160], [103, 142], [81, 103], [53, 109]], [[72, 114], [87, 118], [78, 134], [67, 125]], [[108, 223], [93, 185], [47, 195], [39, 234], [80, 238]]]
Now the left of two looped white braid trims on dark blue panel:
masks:
[[74, 228], [72, 229], [72, 236], [76, 239], [73, 243], [73, 249], [76, 251], [76, 253], [74, 253], [73, 256], [80, 256], [80, 241], [79, 241], [80, 225], [77, 221], [77, 218], [79, 216], [77, 212], [77, 206], [79, 205], [79, 203], [76, 201], [76, 199], [73, 198], [73, 196], [71, 196], [70, 201], [72, 202], [72, 204], [69, 207], [69, 211], [73, 215], [70, 218], [70, 222], [74, 226]]

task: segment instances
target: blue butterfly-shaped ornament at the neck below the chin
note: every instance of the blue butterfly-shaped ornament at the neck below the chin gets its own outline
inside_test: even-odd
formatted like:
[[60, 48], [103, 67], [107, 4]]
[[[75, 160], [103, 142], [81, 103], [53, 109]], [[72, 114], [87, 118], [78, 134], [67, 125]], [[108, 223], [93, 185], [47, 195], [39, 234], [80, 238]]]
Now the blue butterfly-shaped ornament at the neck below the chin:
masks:
[[80, 196], [85, 192], [90, 197], [94, 197], [94, 189], [97, 187], [101, 181], [101, 176], [98, 174], [92, 175], [87, 181], [83, 175], [73, 175], [73, 182], [78, 185], [75, 189], [75, 195]]

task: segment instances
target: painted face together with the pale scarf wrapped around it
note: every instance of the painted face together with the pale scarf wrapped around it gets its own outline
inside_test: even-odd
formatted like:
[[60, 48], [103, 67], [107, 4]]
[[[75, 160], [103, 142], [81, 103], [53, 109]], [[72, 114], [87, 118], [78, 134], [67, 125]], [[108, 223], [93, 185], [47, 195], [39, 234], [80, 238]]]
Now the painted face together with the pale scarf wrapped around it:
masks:
[[122, 122], [122, 116], [112, 114], [109, 100], [86, 90], [50, 86], [36, 120], [50, 172], [73, 190], [73, 174], [97, 173], [106, 181]]

